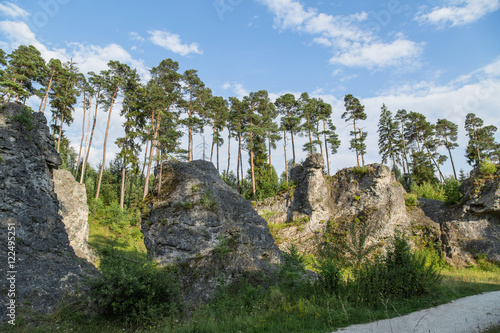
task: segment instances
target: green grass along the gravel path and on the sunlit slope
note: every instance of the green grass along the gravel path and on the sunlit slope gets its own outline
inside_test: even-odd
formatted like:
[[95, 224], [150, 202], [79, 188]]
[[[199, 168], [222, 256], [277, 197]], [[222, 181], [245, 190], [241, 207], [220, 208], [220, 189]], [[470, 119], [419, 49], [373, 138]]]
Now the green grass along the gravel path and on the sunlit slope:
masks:
[[[275, 225], [276, 228], [285, 225]], [[272, 224], [270, 225], [272, 229]], [[90, 220], [89, 244], [99, 253], [113, 248], [119, 255], [144, 262], [146, 249], [137, 237], [138, 227], [127, 226], [117, 234], [99, 220]], [[313, 257], [303, 256], [311, 268]], [[52, 315], [35, 316], [28, 323], [19, 314], [16, 326], [0, 326], [5, 332], [327, 332], [353, 324], [372, 322], [434, 307], [454, 299], [500, 290], [500, 268], [479, 265], [468, 269], [442, 270], [443, 279], [434, 293], [406, 300], [386, 299], [379, 306], [355, 305], [342, 293], [329, 294], [312, 283], [292, 279], [267, 289], [251, 283], [217, 290], [211, 304], [171, 316], [147, 327], [130, 327], [90, 314], [85, 301], [61, 304]], [[495, 330], [496, 329], [496, 330]], [[498, 332], [492, 327], [488, 332]]]

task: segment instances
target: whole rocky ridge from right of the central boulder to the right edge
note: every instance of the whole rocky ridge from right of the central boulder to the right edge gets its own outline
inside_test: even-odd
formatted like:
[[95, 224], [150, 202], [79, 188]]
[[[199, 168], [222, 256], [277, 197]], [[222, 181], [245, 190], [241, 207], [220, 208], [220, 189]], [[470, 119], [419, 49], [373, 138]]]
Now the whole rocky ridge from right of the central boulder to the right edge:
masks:
[[256, 203], [282, 250], [293, 243], [314, 253], [329, 233], [341, 236], [361, 222], [373, 229], [369, 240], [382, 252], [399, 230], [417, 245], [442, 250], [452, 265], [474, 263], [479, 254], [500, 262], [500, 170], [486, 178], [474, 172], [461, 187], [459, 205], [420, 198], [407, 207], [406, 192], [387, 166], [347, 168], [329, 178], [322, 165], [321, 156], [312, 154], [291, 171], [294, 191]]

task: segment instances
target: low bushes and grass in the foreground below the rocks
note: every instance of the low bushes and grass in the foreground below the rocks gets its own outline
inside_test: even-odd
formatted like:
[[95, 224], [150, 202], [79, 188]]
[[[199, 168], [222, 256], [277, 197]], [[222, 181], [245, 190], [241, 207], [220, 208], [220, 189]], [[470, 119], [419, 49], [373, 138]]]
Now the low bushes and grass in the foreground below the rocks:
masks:
[[[38, 317], [37, 331], [325, 332], [500, 290], [498, 266], [445, 268], [439, 274], [437, 266], [396, 237], [387, 256], [364, 256], [361, 263], [322, 252], [313, 265], [317, 279], [306, 272], [305, 255], [292, 246], [267, 287], [246, 277], [219, 287], [211, 303], [186, 312], [175, 268], [112, 250], [101, 255], [103, 275], [93, 289], [99, 314], [89, 314], [83, 301], [63, 305], [54, 315]], [[17, 326], [30, 327], [22, 321]]]

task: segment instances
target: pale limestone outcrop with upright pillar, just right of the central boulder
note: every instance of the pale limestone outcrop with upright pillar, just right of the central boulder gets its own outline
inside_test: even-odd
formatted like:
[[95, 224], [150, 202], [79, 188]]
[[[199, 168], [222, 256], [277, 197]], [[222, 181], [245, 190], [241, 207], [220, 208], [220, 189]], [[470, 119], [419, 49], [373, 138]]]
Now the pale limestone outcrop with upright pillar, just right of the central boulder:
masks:
[[408, 233], [414, 227], [405, 191], [387, 166], [347, 168], [328, 178], [323, 175], [323, 158], [312, 154], [304, 165], [292, 169], [291, 179], [297, 183], [293, 194], [257, 204], [259, 213], [272, 216], [269, 222], [278, 225], [275, 238], [283, 250], [293, 243], [314, 253], [328, 233], [344, 234], [355, 221], [371, 226], [369, 240], [380, 243], [383, 250], [397, 230]]

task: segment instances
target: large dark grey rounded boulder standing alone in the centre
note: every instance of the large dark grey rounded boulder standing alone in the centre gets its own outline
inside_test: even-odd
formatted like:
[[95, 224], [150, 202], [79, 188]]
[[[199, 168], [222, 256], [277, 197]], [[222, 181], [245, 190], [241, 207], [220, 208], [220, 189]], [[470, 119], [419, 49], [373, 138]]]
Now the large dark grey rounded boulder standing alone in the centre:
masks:
[[[157, 182], [159, 180], [157, 174]], [[266, 222], [220, 178], [212, 163], [164, 162], [141, 227], [148, 256], [177, 265], [190, 304], [246, 275], [263, 279], [282, 260]]]

